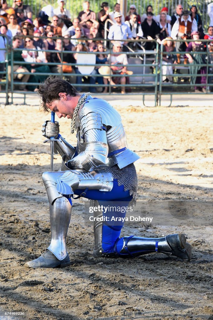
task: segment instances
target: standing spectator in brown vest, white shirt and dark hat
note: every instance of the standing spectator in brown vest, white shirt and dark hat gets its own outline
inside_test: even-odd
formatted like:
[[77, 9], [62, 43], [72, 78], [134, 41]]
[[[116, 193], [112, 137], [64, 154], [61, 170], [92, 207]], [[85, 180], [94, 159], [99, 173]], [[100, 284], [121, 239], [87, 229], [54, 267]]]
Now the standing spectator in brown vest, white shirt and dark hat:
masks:
[[[183, 40], [182, 42], [177, 41], [175, 47], [177, 51], [186, 51], [187, 43], [184, 41], [190, 39], [190, 35], [193, 31], [197, 31], [197, 22], [191, 18], [190, 11], [187, 9], [183, 10], [182, 16], [177, 19], [171, 29], [171, 37], [174, 40]], [[177, 54], [178, 63], [180, 63], [180, 53]]]

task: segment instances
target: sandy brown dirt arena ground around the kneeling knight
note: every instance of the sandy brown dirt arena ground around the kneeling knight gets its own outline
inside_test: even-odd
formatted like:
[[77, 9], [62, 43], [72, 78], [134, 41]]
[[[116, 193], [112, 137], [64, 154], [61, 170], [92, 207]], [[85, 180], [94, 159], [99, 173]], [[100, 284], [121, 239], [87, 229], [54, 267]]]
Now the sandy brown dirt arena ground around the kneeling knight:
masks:
[[[191, 262], [157, 253], [94, 259], [93, 227], [85, 226], [84, 201], [76, 200], [67, 237], [71, 266], [24, 267], [50, 240], [48, 199], [41, 180], [50, 163], [50, 147], [42, 143], [41, 134], [49, 115], [39, 111], [37, 102], [1, 107], [0, 319], [213, 319], [213, 210], [211, 205], [206, 209], [213, 199], [212, 108], [124, 108], [119, 100], [114, 106], [122, 116], [129, 147], [141, 156], [135, 163], [137, 210], [141, 213], [142, 201], [155, 204], [152, 223], [127, 223], [121, 235], [184, 232], [193, 246]], [[60, 120], [61, 134], [75, 145], [69, 126], [68, 119]], [[55, 158], [58, 170], [61, 159]], [[182, 219], [157, 225], [160, 201], [202, 208], [195, 206], [195, 216], [190, 213], [188, 219], [183, 214]], [[12, 311], [25, 314], [4, 315]]]

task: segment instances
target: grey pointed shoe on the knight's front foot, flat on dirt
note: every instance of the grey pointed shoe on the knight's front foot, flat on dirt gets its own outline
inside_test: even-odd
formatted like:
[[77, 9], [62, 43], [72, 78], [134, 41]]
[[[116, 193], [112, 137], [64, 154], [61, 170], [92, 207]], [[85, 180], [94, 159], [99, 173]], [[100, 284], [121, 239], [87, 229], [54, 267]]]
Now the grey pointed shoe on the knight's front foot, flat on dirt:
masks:
[[70, 257], [67, 253], [63, 260], [59, 260], [52, 252], [46, 250], [39, 258], [25, 263], [24, 266], [27, 268], [65, 268], [70, 266]]

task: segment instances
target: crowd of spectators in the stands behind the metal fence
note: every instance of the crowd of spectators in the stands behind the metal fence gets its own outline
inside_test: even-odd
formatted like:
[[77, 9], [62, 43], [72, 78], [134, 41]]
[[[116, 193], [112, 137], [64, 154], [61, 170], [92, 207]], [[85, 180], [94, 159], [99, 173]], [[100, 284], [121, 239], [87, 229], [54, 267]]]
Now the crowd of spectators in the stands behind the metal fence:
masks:
[[[54, 73], [58, 77], [65, 77], [81, 90], [82, 80], [85, 77], [79, 71], [78, 57], [84, 54], [83, 52], [97, 52], [95, 64], [99, 64], [100, 67], [94, 66], [91, 76], [88, 77], [90, 91], [96, 92], [95, 84], [98, 83], [103, 85], [103, 92], [107, 92], [109, 81], [112, 86], [120, 84], [121, 92], [125, 93], [125, 86], [122, 85], [129, 81], [126, 76], [126, 74], [128, 75], [128, 54], [126, 53], [129, 50], [139, 49], [141, 45], [146, 51], [153, 51], [156, 49], [156, 42], [158, 42], [164, 45], [163, 81], [172, 82], [174, 65], [181, 63], [181, 58], [185, 58], [184, 63], [189, 63], [191, 70], [193, 70], [194, 83], [203, 84], [203, 86], [195, 87], [195, 90], [205, 92], [204, 81], [206, 83], [206, 78], [205, 76], [199, 77], [199, 74], [205, 74], [206, 67], [195, 68], [195, 62], [204, 63], [205, 56], [188, 52], [206, 50], [212, 52], [213, 27], [209, 26], [208, 33], [204, 34], [201, 16], [196, 5], [193, 4], [190, 10], [187, 10], [178, 4], [172, 16], [168, 14], [167, 7], [162, 8], [156, 16], [151, 5], [147, 6], [146, 12], [141, 16], [134, 4], [131, 4], [128, 9], [127, 15], [124, 17], [120, 12], [120, 4], [116, 3], [113, 11], [110, 11], [108, 2], [103, 2], [100, 11], [96, 14], [90, 9], [89, 1], [84, 1], [82, 11], [71, 20], [71, 14], [66, 9], [65, 1], [57, 0], [56, 9], [47, 5], [33, 20], [31, 7], [24, 4], [23, 0], [14, 0], [12, 7], [8, 7], [7, 0], [0, 0], [0, 33], [7, 36], [0, 36], [0, 81], [5, 68], [5, 48], [8, 44], [13, 48], [13, 60], [16, 61], [13, 67], [13, 71], [16, 72], [13, 74], [13, 79], [18, 79], [23, 83], [29, 82], [29, 85], [21, 83], [19, 85], [19, 89], [26, 91], [36, 91], [37, 86], [30, 83], [43, 81], [46, 77], [45, 73], [47, 75]], [[111, 40], [111, 54], [105, 53], [105, 51], [109, 51], [109, 47], [104, 47], [106, 24], [109, 29], [107, 38]], [[46, 38], [41, 38], [42, 36]], [[152, 41], [144, 42], [144, 39]], [[173, 41], [177, 39], [180, 41]], [[193, 39], [194, 42], [188, 43], [186, 39]], [[210, 39], [212, 42], [206, 45], [200, 39]], [[131, 42], [129, 40], [138, 41]], [[22, 49], [22, 51], [17, 49]], [[186, 51], [187, 53], [182, 56], [181, 53], [176, 53]], [[202, 61], [198, 56], [202, 57]], [[8, 80], [11, 83], [10, 53], [8, 60]], [[21, 64], [23, 61], [28, 64]], [[64, 63], [71, 63], [72, 70], [65, 71]], [[109, 63], [113, 65], [110, 71], [110, 75], [113, 76], [105, 75], [102, 77], [103, 70], [109, 71], [109, 67], [102, 67]], [[30, 74], [23, 74], [23, 72]], [[39, 75], [40, 73], [41, 75]], [[116, 76], [116, 73], [119, 73], [119, 76]]]

